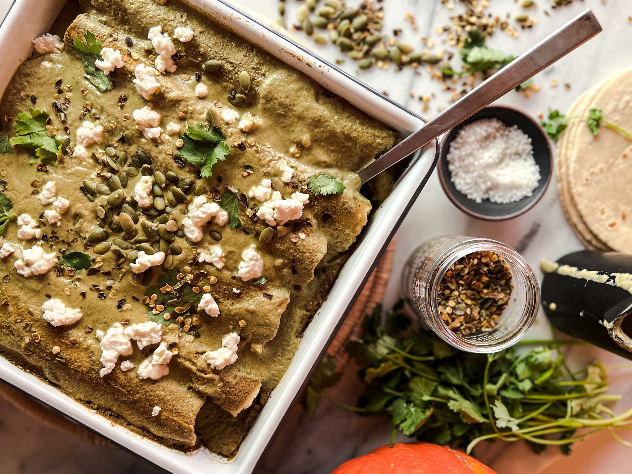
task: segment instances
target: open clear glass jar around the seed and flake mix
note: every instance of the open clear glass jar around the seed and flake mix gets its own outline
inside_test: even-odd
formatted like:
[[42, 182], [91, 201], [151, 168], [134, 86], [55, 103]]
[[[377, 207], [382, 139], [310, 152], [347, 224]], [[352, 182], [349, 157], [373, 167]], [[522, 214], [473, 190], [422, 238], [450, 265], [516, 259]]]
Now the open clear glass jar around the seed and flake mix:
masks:
[[[500, 255], [509, 265], [514, 289], [494, 329], [461, 335], [449, 329], [441, 318], [439, 286], [449, 267], [473, 252]], [[517, 343], [533, 324], [540, 305], [540, 286], [524, 258], [495, 240], [461, 236], [436, 238], [418, 246], [404, 266], [403, 293], [423, 325], [446, 343], [475, 353], [501, 351]]]

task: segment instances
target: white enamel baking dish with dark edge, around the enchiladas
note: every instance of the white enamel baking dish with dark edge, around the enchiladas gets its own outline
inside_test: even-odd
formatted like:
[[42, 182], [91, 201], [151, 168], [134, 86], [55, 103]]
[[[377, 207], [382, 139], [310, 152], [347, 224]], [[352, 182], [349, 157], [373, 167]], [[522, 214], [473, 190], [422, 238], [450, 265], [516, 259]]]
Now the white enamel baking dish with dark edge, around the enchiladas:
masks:
[[[10, 0], [4, 0], [10, 1]], [[188, 0], [234, 33], [258, 44], [277, 58], [311, 76], [322, 86], [406, 136], [419, 128], [421, 118], [358, 82], [332, 64], [222, 0]], [[0, 25], [0, 90], [4, 90], [21, 61], [32, 52], [31, 40], [50, 27], [63, 0], [15, 0]], [[375, 212], [340, 276], [303, 336], [298, 351], [279, 386], [265, 405], [238, 454], [226, 460], [198, 449], [181, 453], [150, 441], [93, 413], [54, 386], [42, 382], [0, 357], [0, 379], [39, 399], [76, 422], [152, 463], [175, 474], [250, 473], [281, 418], [291, 406], [310, 372], [319, 361], [336, 329], [351, 309], [356, 296], [380, 255], [410, 209], [438, 158], [437, 143], [417, 153], [398, 185]]]

